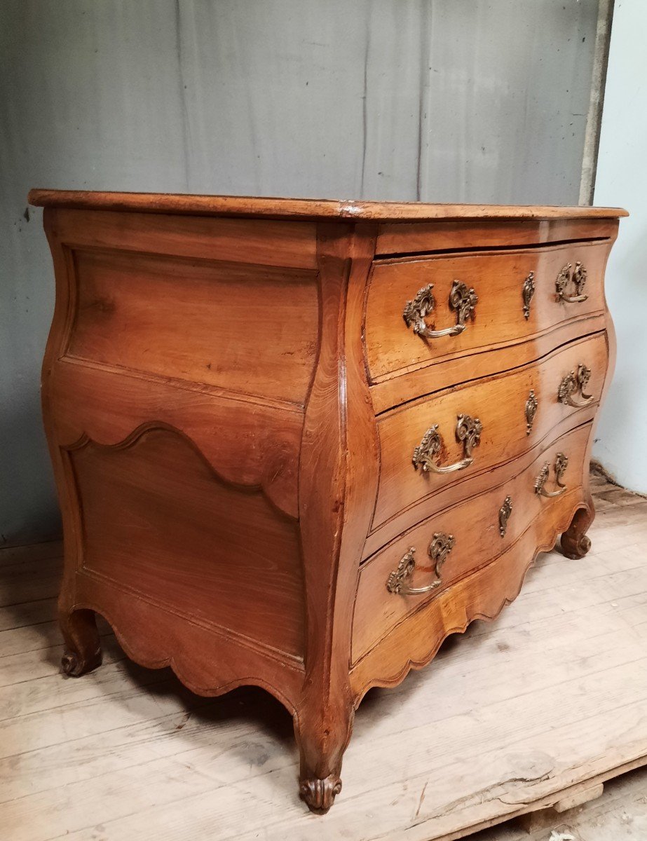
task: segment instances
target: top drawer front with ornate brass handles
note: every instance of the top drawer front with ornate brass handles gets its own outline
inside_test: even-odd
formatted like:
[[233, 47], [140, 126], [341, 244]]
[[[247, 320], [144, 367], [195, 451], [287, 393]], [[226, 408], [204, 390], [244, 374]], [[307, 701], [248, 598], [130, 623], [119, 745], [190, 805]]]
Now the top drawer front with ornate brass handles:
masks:
[[365, 333], [372, 381], [604, 309], [610, 247], [583, 242], [375, 262]]

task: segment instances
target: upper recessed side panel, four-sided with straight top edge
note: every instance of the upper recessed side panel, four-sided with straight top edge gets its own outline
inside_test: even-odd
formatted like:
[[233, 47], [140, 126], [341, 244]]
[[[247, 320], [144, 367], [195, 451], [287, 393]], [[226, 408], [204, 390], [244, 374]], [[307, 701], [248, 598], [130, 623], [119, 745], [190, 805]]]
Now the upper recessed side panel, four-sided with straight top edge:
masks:
[[303, 405], [315, 272], [103, 250], [74, 262], [73, 357]]

